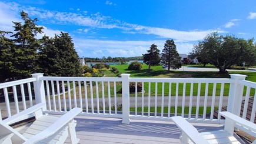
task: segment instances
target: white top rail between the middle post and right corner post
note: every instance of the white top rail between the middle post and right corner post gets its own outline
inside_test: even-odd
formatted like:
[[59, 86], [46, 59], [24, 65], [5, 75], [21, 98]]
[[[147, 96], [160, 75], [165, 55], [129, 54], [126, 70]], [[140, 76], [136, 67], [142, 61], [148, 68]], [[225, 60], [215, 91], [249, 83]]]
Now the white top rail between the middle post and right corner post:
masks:
[[129, 78], [130, 82], [234, 83], [228, 78]]

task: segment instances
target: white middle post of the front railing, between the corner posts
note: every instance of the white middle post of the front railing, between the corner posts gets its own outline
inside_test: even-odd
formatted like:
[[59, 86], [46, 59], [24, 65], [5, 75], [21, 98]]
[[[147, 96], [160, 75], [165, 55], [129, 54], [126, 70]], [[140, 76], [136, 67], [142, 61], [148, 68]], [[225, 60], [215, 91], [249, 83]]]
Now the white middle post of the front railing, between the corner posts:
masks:
[[122, 74], [122, 123], [129, 124], [129, 76], [130, 74]]

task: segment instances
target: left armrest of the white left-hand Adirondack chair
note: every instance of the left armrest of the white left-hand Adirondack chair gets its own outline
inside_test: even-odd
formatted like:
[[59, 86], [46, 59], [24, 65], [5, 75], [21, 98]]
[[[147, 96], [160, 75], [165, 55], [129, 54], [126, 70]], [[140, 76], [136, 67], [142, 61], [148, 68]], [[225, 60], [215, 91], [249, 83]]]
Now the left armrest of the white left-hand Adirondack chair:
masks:
[[45, 106], [45, 103], [38, 103], [34, 106], [31, 106], [28, 109], [23, 110], [22, 112], [16, 113], [15, 115], [3, 120], [3, 122], [7, 123], [8, 125], [14, 122], [18, 122], [21, 120], [24, 116], [28, 116], [31, 113], [34, 113], [40, 109], [42, 109]]

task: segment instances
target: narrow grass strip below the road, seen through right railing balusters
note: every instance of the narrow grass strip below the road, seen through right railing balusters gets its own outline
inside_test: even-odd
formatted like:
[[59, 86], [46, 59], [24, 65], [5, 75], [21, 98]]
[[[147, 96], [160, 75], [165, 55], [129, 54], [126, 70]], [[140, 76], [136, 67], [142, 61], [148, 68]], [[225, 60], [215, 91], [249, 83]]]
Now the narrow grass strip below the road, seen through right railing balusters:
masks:
[[[196, 107], [192, 107], [191, 114], [195, 114], [196, 113], [196, 109], [197, 109]], [[214, 108], [214, 109], [217, 109], [217, 108]], [[178, 106], [177, 113], [181, 113], [181, 110], [182, 110], [182, 107]], [[141, 111], [142, 111], [141, 107], [137, 108], [137, 112], [141, 112]], [[135, 108], [130, 108], [130, 112], [135, 112]], [[144, 112], [148, 112], [148, 107], [144, 107]], [[154, 113], [155, 112], [155, 108], [151, 107], [150, 108], [150, 112]], [[207, 107], [206, 113], [210, 113], [210, 112], [211, 112], [211, 107]], [[161, 113], [161, 107], [157, 107], [157, 113]], [[168, 107], [164, 107], [164, 113], [168, 113]], [[175, 113], [175, 107], [174, 106], [171, 106], [171, 113]], [[184, 114], [188, 114], [188, 113], [189, 113], [189, 107], [185, 106], [184, 107]], [[203, 113], [204, 113], [204, 107], [200, 106], [199, 110], [198, 110], [198, 114], [202, 115]]]

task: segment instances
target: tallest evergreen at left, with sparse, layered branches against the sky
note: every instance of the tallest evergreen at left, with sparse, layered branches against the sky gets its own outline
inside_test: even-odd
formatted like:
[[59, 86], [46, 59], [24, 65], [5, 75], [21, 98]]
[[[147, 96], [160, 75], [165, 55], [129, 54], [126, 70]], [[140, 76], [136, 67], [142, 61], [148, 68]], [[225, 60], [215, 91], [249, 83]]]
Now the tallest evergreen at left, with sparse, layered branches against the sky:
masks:
[[40, 48], [40, 42], [36, 39], [37, 34], [42, 34], [42, 26], [35, 24], [38, 19], [29, 18], [24, 11], [21, 12], [22, 22], [13, 22], [14, 31], [11, 37], [15, 45], [12, 47], [12, 65], [14, 66], [15, 79], [23, 79], [36, 72], [37, 51]]

